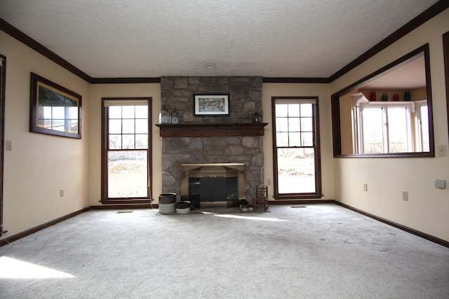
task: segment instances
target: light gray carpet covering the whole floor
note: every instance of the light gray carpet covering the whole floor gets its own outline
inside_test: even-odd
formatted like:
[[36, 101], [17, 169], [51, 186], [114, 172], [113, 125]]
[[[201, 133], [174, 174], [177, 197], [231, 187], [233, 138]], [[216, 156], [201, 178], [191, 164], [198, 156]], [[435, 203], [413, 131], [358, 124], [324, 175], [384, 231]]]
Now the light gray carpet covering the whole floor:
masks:
[[293, 207], [88, 211], [0, 247], [0, 298], [449, 298], [448, 248]]

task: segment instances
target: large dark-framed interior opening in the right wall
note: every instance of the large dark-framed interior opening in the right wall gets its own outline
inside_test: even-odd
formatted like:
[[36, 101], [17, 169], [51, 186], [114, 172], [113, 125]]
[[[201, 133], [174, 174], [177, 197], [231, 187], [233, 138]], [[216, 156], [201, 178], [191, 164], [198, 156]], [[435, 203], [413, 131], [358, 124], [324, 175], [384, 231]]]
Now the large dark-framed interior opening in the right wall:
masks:
[[[410, 76], [413, 76], [415, 80], [411, 81]], [[404, 144], [401, 145], [402, 148], [406, 148], [406, 151], [398, 152], [398, 144], [391, 144], [395, 138], [396, 141], [399, 139], [397, 135], [394, 136], [396, 131], [392, 132], [391, 129], [389, 132], [382, 132], [382, 137], [380, 137], [382, 141], [377, 141], [375, 153], [363, 153], [365, 148], [361, 147], [361, 142], [363, 140], [360, 139], [360, 134], [363, 134], [363, 132], [361, 132], [361, 125], [359, 123], [356, 124], [356, 121], [361, 121], [361, 117], [358, 116], [358, 113], [354, 113], [354, 110], [357, 110], [354, 109], [354, 101], [358, 101], [358, 93], [370, 97], [368, 96], [370, 95], [370, 91], [381, 92], [381, 94], [382, 92], [390, 92], [390, 94], [392, 92], [404, 92], [404, 98], [406, 97], [406, 92], [410, 91], [410, 97], [413, 101], [406, 102], [417, 103], [419, 100], [426, 102], [420, 109], [415, 106], [413, 108], [415, 109], [415, 112], [411, 112], [411, 116], [404, 114], [402, 112], [403, 109], [396, 109], [398, 110], [396, 112], [400, 113], [401, 117], [411, 118], [410, 127], [408, 127], [408, 129], [410, 130], [410, 134], [413, 134], [413, 137], [411, 135], [406, 137], [408, 139], [407, 147], [404, 146]], [[333, 153], [335, 158], [420, 158], [435, 156], [429, 43], [426, 43], [398, 60], [387, 64], [381, 69], [374, 71], [372, 74], [352, 83], [339, 92], [336, 92], [331, 96], [331, 101]], [[366, 102], [369, 102], [368, 99], [366, 99]], [[373, 102], [373, 104], [374, 103], [375, 102]], [[401, 102], [398, 104], [401, 104]], [[382, 113], [384, 113], [384, 111], [393, 109], [385, 107], [381, 110]], [[427, 115], [424, 115], [425, 111], [427, 111]], [[389, 116], [389, 127], [392, 128], [394, 127], [394, 124], [391, 120], [394, 117], [392, 117], [391, 112], [392, 111], [389, 111], [387, 114], [384, 113], [382, 117]], [[398, 125], [405, 126], [407, 124], [401, 121]], [[377, 124], [375, 126], [377, 126]], [[368, 129], [373, 129], [373, 127], [369, 127]], [[385, 129], [387, 129], [387, 127], [382, 125], [382, 130]], [[358, 130], [358, 132], [356, 132], [356, 130]], [[403, 130], [403, 128], [401, 130]], [[393, 134], [391, 135], [391, 133]], [[420, 134], [421, 137], [419, 136]], [[389, 141], [385, 141], [385, 139], [389, 139]], [[380, 142], [383, 142], [383, 144]], [[422, 146], [422, 148], [420, 148], [420, 146]], [[386, 150], [385, 148], [387, 147], [390, 148]], [[413, 151], [410, 148], [413, 148]]]

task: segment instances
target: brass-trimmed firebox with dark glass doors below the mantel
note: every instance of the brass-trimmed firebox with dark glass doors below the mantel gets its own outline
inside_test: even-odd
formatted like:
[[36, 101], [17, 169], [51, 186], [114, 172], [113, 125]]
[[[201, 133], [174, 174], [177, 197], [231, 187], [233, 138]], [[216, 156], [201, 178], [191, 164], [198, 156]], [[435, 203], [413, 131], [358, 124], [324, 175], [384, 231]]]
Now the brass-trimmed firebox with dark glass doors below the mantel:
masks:
[[238, 207], [246, 200], [245, 164], [182, 164], [181, 200], [194, 207]]

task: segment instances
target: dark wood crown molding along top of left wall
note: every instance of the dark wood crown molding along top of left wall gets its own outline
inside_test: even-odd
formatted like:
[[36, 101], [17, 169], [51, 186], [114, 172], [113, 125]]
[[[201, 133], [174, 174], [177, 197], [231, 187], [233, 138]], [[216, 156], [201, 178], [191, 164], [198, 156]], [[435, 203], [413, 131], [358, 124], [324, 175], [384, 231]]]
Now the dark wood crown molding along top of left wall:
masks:
[[48, 50], [48, 48], [43, 46], [41, 43], [34, 41], [34, 39], [27, 36], [27, 34], [21, 32], [19, 29], [13, 27], [13, 25], [9, 24], [8, 22], [4, 21], [1, 18], [0, 18], [0, 30], [13, 36], [14, 39], [17, 39], [21, 43], [24, 43], [26, 46], [29, 46], [29, 48], [32, 48], [37, 53], [40, 53], [41, 55], [47, 57], [49, 60], [55, 62], [56, 64], [59, 64], [61, 67], [67, 69], [67, 71], [71, 71], [73, 74], [79, 76], [79, 78], [83, 79], [84, 81], [87, 81], [89, 83], [91, 82], [92, 80], [91, 76], [84, 73], [83, 71], [75, 67], [73, 64], [70, 64], [69, 62], [67, 62], [67, 60], [64, 60], [59, 55], [53, 53], [51, 50]]

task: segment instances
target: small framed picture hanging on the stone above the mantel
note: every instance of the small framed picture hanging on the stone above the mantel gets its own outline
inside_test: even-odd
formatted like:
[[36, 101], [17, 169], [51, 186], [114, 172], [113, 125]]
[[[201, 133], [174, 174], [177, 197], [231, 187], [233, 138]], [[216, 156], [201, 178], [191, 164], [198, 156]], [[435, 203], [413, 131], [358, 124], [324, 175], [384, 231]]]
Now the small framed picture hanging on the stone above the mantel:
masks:
[[194, 95], [194, 116], [229, 115], [229, 94]]

